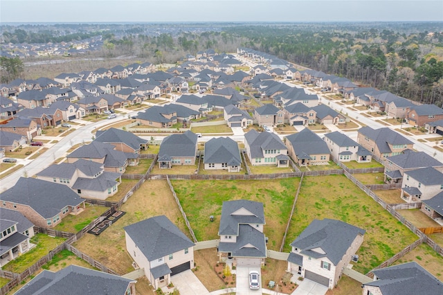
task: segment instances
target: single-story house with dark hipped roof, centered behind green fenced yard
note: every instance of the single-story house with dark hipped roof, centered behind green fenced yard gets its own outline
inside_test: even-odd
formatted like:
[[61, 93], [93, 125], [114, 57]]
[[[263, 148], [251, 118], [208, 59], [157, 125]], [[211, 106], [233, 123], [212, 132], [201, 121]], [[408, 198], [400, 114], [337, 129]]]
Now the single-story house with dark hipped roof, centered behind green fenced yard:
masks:
[[228, 137], [211, 138], [205, 143], [205, 170], [228, 170], [240, 172], [242, 157], [238, 143]]

